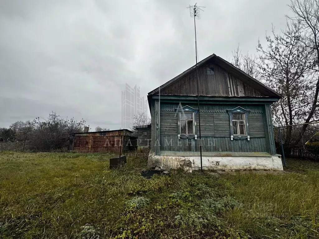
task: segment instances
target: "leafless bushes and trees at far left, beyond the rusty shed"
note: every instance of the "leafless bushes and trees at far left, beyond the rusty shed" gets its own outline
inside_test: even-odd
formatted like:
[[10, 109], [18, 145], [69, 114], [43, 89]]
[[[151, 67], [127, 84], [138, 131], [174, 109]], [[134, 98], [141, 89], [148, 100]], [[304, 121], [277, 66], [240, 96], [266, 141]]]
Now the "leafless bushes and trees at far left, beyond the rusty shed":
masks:
[[0, 128], [0, 141], [26, 142], [26, 149], [52, 151], [68, 145], [72, 133], [83, 132], [85, 120], [63, 118], [51, 112], [46, 119], [17, 121], [9, 128]]

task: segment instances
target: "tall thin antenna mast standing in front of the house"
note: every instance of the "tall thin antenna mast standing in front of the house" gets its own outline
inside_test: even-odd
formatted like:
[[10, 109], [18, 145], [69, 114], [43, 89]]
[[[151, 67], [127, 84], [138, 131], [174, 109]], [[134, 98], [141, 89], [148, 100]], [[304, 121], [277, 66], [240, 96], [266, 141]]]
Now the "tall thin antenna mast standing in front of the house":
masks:
[[197, 108], [198, 108], [198, 126], [199, 126], [199, 151], [200, 151], [200, 168], [203, 171], [203, 160], [202, 160], [202, 137], [200, 131], [200, 110], [199, 110], [199, 86], [198, 86], [198, 53], [197, 53], [197, 37], [196, 37], [196, 19], [200, 19], [200, 11], [204, 11], [200, 7], [197, 6], [197, 3], [194, 6], [189, 5], [189, 13], [190, 17], [194, 18], [194, 28], [195, 28], [195, 58], [196, 58], [196, 84], [197, 84]]

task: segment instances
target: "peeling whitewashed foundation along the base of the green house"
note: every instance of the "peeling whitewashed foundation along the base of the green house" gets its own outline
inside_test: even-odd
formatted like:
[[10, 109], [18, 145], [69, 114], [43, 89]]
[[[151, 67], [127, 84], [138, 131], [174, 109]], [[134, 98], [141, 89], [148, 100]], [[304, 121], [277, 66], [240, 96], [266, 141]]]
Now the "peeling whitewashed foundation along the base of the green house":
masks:
[[[201, 168], [200, 156], [185, 155], [148, 156], [148, 166], [155, 170], [169, 170], [182, 168], [185, 171], [199, 170]], [[205, 153], [205, 152], [203, 152]], [[172, 153], [174, 154], [174, 153]], [[202, 156], [203, 170], [283, 170], [281, 155], [268, 153], [234, 153], [234, 152], [206, 152]]]

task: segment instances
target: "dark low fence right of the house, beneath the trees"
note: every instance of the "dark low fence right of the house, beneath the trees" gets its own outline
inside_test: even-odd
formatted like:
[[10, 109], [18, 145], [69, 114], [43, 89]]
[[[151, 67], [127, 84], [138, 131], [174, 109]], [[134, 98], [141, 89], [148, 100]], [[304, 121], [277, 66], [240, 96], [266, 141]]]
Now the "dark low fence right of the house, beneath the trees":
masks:
[[295, 145], [285, 148], [286, 157], [319, 161], [319, 146]]

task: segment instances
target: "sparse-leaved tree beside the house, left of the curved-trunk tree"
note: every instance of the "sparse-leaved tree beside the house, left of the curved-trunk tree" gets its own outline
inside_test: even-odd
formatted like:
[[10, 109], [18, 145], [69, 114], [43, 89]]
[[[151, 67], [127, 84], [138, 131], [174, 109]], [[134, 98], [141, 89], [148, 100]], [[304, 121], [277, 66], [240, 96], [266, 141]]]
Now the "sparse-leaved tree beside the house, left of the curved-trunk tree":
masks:
[[[303, 47], [304, 37], [298, 23], [287, 23], [282, 34], [266, 35], [267, 47], [258, 41], [259, 68], [266, 84], [283, 98], [272, 106], [274, 123], [293, 125], [303, 121], [311, 108], [310, 91], [315, 87], [312, 78], [312, 50]], [[287, 127], [285, 143], [292, 140], [292, 127]]]

